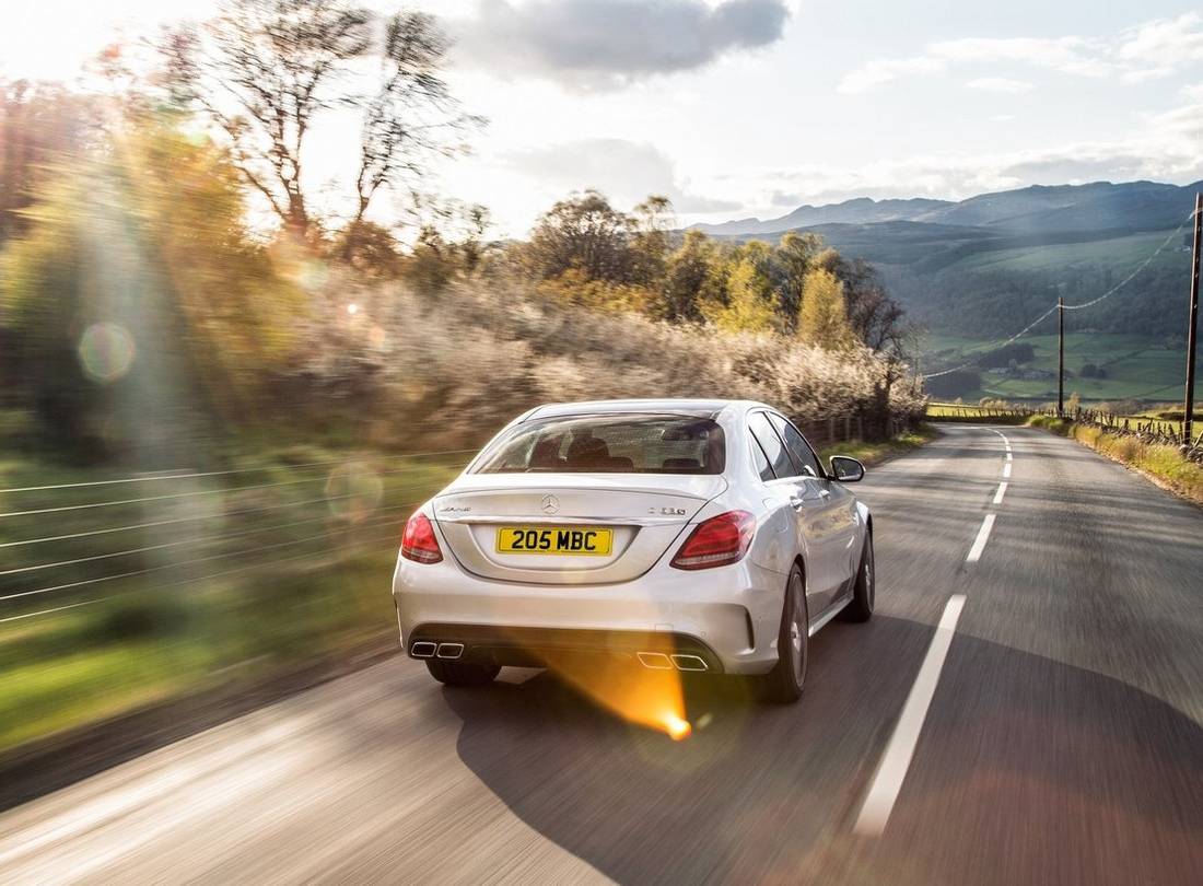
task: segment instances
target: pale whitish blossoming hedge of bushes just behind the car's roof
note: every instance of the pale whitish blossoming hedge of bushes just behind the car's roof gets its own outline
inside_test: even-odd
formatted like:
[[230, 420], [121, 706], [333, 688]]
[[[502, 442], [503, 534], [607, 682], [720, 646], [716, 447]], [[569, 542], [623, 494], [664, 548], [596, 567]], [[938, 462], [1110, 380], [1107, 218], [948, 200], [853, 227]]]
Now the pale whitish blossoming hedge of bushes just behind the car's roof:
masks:
[[[367, 379], [373, 412], [387, 417], [368, 441], [380, 445], [472, 445], [539, 403], [611, 397], [754, 398], [801, 420], [845, 415], [871, 407], [887, 371], [865, 348], [674, 326], [504, 277], [437, 296], [397, 284], [355, 291], [344, 280], [331, 299], [360, 311], [338, 335], [314, 331], [303, 368], [334, 383]], [[895, 388], [894, 414], [921, 414], [923, 398]]]

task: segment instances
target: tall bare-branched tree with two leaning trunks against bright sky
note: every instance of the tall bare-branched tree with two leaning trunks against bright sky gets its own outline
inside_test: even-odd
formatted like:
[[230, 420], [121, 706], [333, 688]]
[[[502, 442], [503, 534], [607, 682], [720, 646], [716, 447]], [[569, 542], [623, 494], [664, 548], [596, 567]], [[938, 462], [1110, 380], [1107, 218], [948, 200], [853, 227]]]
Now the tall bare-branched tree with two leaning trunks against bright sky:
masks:
[[[345, 0], [226, 0], [201, 28], [162, 45], [172, 98], [201, 111], [226, 136], [247, 182], [298, 236], [310, 234], [302, 172], [315, 118], [334, 107], [363, 113], [352, 224], [381, 188], [420, 178], [431, 154], [475, 118], [458, 112], [440, 78], [448, 41], [433, 17], [399, 12], [385, 22]], [[356, 90], [379, 53], [374, 91]]]

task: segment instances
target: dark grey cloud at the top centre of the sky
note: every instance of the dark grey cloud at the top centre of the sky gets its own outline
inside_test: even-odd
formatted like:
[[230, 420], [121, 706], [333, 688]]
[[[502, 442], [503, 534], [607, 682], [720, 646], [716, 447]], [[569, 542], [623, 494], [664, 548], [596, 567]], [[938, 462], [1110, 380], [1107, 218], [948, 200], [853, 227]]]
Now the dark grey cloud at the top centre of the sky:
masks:
[[451, 28], [461, 65], [602, 90], [770, 46], [788, 18], [784, 0], [481, 0]]

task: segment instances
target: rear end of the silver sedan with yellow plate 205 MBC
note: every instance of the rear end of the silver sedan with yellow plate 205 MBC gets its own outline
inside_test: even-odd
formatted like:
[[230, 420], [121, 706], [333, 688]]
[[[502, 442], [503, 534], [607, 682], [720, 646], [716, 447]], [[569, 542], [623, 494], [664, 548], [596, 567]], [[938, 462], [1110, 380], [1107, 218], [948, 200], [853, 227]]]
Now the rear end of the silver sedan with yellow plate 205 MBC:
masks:
[[540, 418], [500, 435], [407, 526], [410, 656], [541, 666], [600, 654], [758, 673], [781, 579], [746, 557], [721, 409]]

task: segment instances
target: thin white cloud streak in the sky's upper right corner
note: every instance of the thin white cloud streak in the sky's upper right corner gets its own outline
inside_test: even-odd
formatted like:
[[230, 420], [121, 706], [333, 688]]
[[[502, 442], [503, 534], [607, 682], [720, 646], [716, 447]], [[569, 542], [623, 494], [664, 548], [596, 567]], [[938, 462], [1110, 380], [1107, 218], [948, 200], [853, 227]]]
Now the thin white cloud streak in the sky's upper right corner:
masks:
[[[1178, 18], [1152, 19], [1109, 37], [942, 40], [929, 43], [918, 55], [870, 59], [848, 73], [838, 90], [863, 93], [903, 76], [941, 73], [954, 66], [971, 65], [1024, 65], [1079, 77], [1119, 77], [1134, 83], [1166, 77], [1199, 63], [1203, 63], [1203, 16], [1189, 12]], [[1019, 82], [1008, 77], [982, 77], [971, 85], [1008, 79]]]

